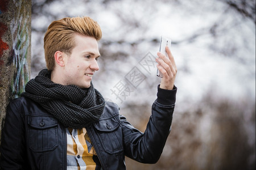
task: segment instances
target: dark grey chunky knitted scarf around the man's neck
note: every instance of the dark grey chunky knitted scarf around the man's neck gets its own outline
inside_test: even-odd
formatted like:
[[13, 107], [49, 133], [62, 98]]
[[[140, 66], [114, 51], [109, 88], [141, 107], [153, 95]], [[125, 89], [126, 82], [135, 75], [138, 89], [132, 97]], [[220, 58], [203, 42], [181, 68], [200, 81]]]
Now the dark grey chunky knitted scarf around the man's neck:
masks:
[[22, 96], [39, 103], [65, 127], [74, 129], [85, 128], [98, 121], [105, 107], [104, 98], [92, 83], [86, 89], [53, 83], [47, 69], [31, 79], [25, 91]]

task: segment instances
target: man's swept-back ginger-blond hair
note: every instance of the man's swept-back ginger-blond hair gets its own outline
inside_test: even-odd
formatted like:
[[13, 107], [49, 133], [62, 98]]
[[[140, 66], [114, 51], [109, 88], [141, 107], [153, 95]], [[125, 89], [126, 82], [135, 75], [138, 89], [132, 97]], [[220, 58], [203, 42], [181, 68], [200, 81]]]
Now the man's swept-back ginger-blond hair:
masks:
[[72, 53], [75, 34], [94, 37], [96, 40], [100, 40], [102, 36], [100, 25], [88, 16], [63, 18], [52, 22], [44, 36], [44, 56], [48, 70], [52, 71], [55, 67], [56, 51]]

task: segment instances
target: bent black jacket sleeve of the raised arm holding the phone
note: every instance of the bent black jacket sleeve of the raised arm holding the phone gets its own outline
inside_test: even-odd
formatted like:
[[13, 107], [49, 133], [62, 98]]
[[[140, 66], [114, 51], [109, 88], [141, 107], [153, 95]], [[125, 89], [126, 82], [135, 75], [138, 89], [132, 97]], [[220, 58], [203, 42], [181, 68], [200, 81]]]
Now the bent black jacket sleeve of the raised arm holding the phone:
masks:
[[162, 90], [158, 86], [158, 99], [152, 104], [152, 114], [142, 133], [121, 116], [125, 155], [141, 163], [156, 163], [162, 154], [171, 130], [176, 90]]

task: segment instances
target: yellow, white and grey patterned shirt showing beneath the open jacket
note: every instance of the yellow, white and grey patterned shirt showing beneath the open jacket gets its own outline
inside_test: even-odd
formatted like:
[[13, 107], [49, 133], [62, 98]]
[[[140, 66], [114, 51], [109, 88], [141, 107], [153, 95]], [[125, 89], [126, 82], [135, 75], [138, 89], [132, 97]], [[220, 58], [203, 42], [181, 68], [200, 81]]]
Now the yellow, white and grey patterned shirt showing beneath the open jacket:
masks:
[[67, 128], [67, 169], [101, 169], [100, 161], [85, 128]]

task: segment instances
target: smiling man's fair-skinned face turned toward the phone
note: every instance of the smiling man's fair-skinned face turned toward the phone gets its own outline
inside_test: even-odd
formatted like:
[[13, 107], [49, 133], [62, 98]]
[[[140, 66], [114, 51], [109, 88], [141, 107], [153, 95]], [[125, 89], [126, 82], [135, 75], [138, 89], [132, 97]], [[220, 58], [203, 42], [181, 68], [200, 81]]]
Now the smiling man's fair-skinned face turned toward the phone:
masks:
[[94, 37], [75, 35], [75, 47], [70, 56], [64, 53], [64, 84], [80, 88], [90, 87], [92, 76], [99, 70], [98, 42]]

